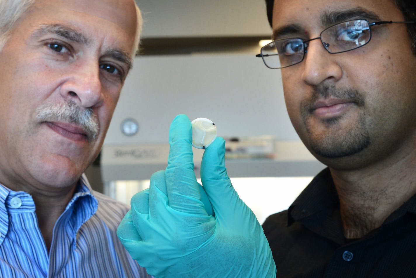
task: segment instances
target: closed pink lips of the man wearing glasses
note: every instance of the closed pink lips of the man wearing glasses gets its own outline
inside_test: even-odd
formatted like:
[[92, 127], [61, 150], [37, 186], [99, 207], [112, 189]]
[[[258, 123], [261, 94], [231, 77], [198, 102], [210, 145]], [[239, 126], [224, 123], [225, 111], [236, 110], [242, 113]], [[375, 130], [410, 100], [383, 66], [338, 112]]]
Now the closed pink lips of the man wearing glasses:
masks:
[[324, 99], [315, 102], [310, 112], [319, 118], [337, 117], [355, 105], [350, 99]]

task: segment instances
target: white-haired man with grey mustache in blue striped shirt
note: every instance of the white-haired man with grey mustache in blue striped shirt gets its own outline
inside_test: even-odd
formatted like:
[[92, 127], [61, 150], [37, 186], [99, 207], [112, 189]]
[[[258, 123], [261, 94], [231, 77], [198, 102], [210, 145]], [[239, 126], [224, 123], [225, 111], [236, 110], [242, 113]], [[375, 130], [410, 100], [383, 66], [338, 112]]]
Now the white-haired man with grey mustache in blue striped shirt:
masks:
[[128, 208], [82, 175], [140, 26], [133, 0], [0, 0], [0, 276], [147, 276], [116, 237]]

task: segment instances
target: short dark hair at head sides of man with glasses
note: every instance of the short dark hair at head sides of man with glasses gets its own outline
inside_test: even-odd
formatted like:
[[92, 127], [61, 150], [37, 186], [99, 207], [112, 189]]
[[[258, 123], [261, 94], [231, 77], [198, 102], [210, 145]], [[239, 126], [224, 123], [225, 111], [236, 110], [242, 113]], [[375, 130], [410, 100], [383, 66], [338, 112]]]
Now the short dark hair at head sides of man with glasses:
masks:
[[[405, 21], [415, 21], [416, 20], [416, 1], [414, 0], [391, 0], [396, 4], [401, 13], [403, 14]], [[273, 19], [273, 5], [275, 0], [266, 0], [267, 8], [267, 19], [269, 20], [270, 27], [272, 27]], [[407, 32], [412, 41], [412, 50], [416, 55], [416, 24], [407, 24]]]

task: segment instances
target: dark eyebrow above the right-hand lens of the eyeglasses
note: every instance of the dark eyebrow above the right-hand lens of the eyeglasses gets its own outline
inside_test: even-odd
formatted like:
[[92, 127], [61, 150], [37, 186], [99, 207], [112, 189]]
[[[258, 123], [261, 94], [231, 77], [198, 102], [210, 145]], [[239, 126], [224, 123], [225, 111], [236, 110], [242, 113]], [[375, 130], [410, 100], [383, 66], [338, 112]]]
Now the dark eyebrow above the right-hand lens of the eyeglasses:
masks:
[[376, 15], [374, 12], [371, 12], [361, 7], [342, 11], [325, 12], [321, 16], [321, 22], [324, 27], [329, 27], [334, 24], [353, 19], [380, 21], [380, 17]]

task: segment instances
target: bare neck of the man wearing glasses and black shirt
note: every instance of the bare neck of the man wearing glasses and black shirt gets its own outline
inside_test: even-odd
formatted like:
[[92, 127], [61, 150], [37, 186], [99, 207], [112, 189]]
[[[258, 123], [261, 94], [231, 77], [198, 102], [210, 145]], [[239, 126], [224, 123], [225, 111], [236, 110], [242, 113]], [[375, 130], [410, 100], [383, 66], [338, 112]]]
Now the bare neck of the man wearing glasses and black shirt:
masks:
[[388, 166], [339, 171], [331, 169], [337, 189], [344, 236], [361, 238], [416, 194], [416, 156]]

